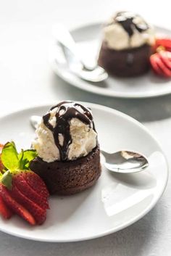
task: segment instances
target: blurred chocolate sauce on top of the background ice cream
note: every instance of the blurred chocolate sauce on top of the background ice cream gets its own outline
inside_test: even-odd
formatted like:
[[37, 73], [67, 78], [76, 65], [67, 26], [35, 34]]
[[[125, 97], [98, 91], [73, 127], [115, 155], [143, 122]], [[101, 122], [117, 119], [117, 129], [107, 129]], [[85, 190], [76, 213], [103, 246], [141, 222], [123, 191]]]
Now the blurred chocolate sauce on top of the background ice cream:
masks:
[[120, 23], [128, 35], [133, 36], [133, 29], [142, 33], [149, 28], [149, 25], [145, 21], [143, 24], [136, 24], [134, 21], [135, 17], [139, 17], [139, 15], [134, 15], [130, 12], [117, 12], [117, 15], [114, 17], [114, 22]]

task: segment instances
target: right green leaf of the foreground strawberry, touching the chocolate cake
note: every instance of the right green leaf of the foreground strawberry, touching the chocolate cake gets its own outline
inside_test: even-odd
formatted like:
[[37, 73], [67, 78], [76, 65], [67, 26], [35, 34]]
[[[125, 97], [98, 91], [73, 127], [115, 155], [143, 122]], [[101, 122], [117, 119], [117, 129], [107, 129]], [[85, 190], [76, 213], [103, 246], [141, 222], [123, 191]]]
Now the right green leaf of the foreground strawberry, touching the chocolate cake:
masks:
[[20, 160], [19, 168], [20, 170], [28, 170], [29, 169], [29, 162], [37, 157], [37, 152], [34, 149], [28, 149], [18, 155]]

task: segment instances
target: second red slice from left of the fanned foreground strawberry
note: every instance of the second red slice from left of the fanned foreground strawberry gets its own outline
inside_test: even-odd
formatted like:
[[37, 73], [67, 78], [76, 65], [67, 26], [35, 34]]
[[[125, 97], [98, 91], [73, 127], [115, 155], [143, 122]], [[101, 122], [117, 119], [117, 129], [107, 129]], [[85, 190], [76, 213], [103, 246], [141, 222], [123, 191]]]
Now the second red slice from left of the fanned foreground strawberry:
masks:
[[12, 193], [6, 188], [6, 186], [2, 184], [0, 184], [0, 194], [3, 201], [10, 209], [28, 221], [30, 225], [36, 225], [36, 220], [33, 218], [33, 215], [31, 215], [25, 207], [20, 205], [14, 198], [12, 198]]

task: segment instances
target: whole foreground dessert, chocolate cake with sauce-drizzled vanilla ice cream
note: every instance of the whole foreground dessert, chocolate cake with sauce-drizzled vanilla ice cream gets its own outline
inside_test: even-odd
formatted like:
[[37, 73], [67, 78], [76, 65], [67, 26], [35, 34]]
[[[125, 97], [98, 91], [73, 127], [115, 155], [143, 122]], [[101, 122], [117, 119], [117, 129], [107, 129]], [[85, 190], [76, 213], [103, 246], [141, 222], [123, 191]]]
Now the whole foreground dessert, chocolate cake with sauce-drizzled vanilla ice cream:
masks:
[[43, 178], [51, 194], [82, 191], [101, 174], [93, 116], [77, 102], [60, 102], [43, 115], [33, 149], [38, 157], [30, 168]]

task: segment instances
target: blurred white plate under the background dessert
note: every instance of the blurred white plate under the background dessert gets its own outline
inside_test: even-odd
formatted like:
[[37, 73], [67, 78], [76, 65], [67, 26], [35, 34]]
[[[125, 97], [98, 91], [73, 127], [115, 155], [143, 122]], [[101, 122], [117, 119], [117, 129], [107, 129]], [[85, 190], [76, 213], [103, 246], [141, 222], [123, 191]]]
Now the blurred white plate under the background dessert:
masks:
[[[96, 63], [101, 44], [101, 29], [101, 23], [97, 23], [71, 31], [73, 38], [78, 43], [83, 59], [86, 59], [88, 63], [90, 61]], [[159, 27], [156, 27], [156, 30], [159, 34], [171, 36], [171, 30]], [[138, 78], [109, 76], [107, 80], [101, 83], [89, 83], [86, 80], [81, 80], [66, 68], [63, 54], [55, 42], [52, 42], [49, 47], [49, 62], [54, 72], [67, 83], [94, 94], [122, 98], [147, 98], [171, 93], [170, 79], [159, 78], [151, 72]]]

